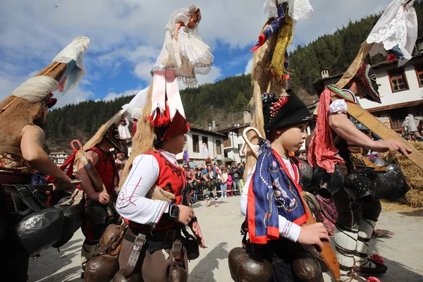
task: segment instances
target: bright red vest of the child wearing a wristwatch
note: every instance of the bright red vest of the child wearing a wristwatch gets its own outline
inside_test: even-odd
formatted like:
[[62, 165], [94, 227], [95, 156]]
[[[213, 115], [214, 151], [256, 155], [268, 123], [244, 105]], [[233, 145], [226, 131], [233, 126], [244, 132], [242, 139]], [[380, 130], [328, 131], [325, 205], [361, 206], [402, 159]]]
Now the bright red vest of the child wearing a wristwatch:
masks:
[[[187, 179], [185, 171], [183, 171], [183, 169], [179, 166], [172, 164], [159, 152], [150, 151], [145, 154], [152, 155], [154, 158], [156, 158], [157, 163], [159, 164], [159, 178], [157, 178], [155, 184], [161, 189], [166, 190], [167, 192], [171, 192], [173, 195], [175, 195], [176, 201], [173, 202], [173, 204], [180, 204], [182, 202], [182, 192], [185, 189]], [[125, 219], [125, 221], [129, 223], [130, 227], [133, 228], [151, 228], [148, 225], [138, 224], [133, 221], [129, 221], [128, 219]], [[159, 223], [157, 223], [157, 225], [154, 227], [154, 229], [166, 230], [168, 228], [171, 228], [175, 224], [175, 221], [165, 221], [161, 219]]]

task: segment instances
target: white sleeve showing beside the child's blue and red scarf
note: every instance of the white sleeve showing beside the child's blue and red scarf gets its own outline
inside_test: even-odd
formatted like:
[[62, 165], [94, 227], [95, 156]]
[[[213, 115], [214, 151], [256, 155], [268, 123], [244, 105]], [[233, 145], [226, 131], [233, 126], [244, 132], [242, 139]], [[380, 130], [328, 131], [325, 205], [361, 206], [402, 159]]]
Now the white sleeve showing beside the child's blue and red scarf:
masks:
[[[250, 169], [247, 174], [247, 180], [244, 184], [243, 195], [241, 195], [241, 214], [247, 216], [247, 202], [248, 202], [248, 190], [250, 189], [250, 182], [252, 181], [252, 175], [255, 169]], [[301, 226], [298, 224], [293, 223], [292, 221], [288, 221], [283, 216], [279, 216], [279, 235], [283, 238], [287, 238], [293, 242], [297, 242], [298, 236], [300, 235]]]

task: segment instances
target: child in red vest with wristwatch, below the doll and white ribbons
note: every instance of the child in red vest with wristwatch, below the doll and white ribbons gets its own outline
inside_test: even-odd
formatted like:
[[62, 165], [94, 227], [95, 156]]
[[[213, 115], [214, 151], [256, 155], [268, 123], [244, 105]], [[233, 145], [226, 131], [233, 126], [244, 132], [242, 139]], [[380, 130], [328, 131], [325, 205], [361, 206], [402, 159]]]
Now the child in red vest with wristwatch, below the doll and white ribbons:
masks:
[[[149, 102], [153, 88], [149, 88]], [[116, 201], [116, 210], [129, 228], [118, 256], [120, 271], [115, 280], [177, 281], [173, 279], [188, 277], [187, 245], [205, 247], [190, 207], [187, 176], [176, 159], [176, 154], [183, 151], [190, 125], [179, 111], [168, 125], [152, 125], [147, 118], [149, 102], [137, 122], [133, 152], [123, 170]], [[195, 240], [185, 226], [190, 226]], [[142, 238], [142, 243], [134, 257], [137, 238]]]

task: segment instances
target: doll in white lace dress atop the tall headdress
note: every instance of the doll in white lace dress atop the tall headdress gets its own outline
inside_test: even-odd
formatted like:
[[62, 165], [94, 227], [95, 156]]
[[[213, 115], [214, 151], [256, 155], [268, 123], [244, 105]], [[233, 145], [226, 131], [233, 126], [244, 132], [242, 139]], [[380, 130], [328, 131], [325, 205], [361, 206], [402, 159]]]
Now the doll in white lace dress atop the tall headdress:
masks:
[[198, 35], [200, 20], [200, 8], [193, 5], [172, 13], [164, 28], [166, 37], [152, 74], [173, 69], [176, 77], [182, 79], [185, 85], [195, 85], [195, 75], [209, 73], [214, 56]]

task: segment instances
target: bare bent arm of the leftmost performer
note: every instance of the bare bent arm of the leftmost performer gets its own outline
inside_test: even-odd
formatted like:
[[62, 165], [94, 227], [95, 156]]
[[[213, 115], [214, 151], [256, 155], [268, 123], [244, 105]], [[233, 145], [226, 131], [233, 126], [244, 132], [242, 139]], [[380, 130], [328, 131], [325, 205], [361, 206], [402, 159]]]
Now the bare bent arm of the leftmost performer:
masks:
[[59, 166], [49, 158], [49, 155], [42, 148], [44, 144], [44, 131], [37, 125], [26, 125], [20, 130], [22, 139], [20, 140], [20, 149], [22, 157], [40, 173], [56, 178], [54, 183], [71, 182], [66, 174], [61, 171]]

